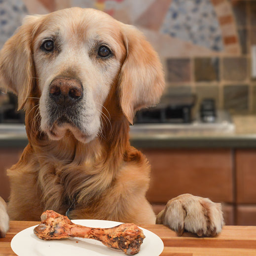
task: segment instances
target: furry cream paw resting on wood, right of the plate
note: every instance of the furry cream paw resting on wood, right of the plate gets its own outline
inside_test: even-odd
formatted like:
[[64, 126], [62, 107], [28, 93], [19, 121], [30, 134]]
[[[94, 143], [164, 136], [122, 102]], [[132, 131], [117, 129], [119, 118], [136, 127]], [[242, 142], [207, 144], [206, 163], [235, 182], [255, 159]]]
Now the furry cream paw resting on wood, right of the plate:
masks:
[[184, 230], [198, 236], [215, 236], [224, 225], [221, 204], [208, 198], [183, 194], [171, 199], [156, 218], [156, 224], [164, 224], [182, 235]]

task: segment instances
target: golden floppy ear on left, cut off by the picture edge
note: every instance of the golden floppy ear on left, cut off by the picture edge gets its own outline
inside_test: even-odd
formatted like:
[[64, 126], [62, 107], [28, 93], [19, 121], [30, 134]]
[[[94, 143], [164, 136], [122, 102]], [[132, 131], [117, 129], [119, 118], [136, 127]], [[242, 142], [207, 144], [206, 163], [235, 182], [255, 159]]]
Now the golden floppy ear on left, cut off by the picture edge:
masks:
[[23, 108], [33, 86], [31, 44], [37, 19], [37, 16], [27, 16], [0, 51], [0, 87], [18, 95], [18, 110]]

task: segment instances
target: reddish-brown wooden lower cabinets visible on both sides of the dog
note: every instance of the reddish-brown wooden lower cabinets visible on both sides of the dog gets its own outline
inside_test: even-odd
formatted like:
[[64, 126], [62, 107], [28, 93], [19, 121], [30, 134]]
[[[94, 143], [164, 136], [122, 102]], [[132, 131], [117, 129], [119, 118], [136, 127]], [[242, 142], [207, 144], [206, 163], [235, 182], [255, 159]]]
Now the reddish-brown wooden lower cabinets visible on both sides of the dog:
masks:
[[[6, 169], [23, 148], [0, 148], [0, 196], [7, 200]], [[151, 164], [146, 194], [155, 213], [183, 193], [223, 203], [226, 224], [256, 225], [256, 149], [141, 149]]]

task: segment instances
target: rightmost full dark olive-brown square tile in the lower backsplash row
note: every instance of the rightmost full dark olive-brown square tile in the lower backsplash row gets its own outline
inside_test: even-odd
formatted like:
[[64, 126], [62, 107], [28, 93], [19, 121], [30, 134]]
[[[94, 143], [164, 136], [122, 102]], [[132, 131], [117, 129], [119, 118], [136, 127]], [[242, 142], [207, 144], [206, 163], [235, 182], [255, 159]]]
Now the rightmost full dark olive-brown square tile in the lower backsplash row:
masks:
[[223, 92], [224, 109], [233, 112], [249, 110], [249, 86], [226, 85]]

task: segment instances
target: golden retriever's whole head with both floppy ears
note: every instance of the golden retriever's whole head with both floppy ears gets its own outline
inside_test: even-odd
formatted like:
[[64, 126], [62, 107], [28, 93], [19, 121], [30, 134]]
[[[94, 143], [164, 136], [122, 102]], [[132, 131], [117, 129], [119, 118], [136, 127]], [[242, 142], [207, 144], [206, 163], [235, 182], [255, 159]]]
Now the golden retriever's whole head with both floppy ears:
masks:
[[164, 78], [137, 29], [71, 8], [25, 18], [0, 52], [0, 86], [18, 95], [19, 109], [31, 111], [28, 99], [39, 98], [40, 129], [49, 138], [71, 131], [86, 143], [101, 131], [110, 94], [132, 123], [136, 110], [159, 101]]

